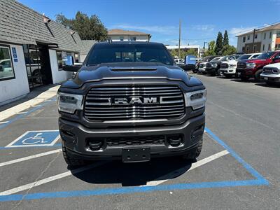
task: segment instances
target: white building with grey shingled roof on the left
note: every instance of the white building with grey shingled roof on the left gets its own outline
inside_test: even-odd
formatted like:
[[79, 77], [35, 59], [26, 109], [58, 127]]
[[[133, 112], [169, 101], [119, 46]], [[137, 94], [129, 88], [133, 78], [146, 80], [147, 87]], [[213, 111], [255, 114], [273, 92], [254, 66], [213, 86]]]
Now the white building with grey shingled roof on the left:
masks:
[[14, 0], [0, 0], [0, 105], [71, 77], [63, 58], [85, 54], [76, 31]]

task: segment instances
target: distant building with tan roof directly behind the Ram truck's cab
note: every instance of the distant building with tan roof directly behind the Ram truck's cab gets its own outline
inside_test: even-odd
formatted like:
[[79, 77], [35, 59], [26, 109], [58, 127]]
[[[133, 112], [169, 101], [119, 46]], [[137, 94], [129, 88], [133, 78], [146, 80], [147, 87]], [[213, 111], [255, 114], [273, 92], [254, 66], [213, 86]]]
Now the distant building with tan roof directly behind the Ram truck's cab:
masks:
[[122, 29], [111, 29], [108, 38], [112, 41], [150, 41], [151, 34], [139, 31], [125, 31]]

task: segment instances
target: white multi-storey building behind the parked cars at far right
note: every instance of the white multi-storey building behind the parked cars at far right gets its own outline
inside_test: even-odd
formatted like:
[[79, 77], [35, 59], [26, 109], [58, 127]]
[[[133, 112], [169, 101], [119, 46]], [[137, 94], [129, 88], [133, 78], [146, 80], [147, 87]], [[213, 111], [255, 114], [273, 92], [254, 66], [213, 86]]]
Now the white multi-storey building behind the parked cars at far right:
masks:
[[[254, 39], [254, 41], [253, 41]], [[267, 52], [280, 50], [280, 23], [237, 36], [237, 52]]]

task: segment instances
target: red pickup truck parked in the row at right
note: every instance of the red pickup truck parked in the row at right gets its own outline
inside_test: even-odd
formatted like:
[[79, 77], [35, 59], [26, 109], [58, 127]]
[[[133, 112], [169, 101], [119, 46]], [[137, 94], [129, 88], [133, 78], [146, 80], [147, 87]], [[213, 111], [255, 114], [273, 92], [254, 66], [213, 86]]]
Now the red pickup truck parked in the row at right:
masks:
[[255, 81], [259, 82], [263, 66], [277, 62], [280, 62], [280, 51], [264, 52], [255, 59], [239, 61], [237, 63], [237, 73], [241, 80], [255, 78]]

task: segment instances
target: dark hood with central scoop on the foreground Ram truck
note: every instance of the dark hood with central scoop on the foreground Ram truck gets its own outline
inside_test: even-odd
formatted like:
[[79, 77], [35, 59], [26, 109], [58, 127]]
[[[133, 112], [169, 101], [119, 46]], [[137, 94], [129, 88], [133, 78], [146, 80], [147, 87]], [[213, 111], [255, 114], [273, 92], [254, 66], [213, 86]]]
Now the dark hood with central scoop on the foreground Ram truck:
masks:
[[121, 79], [169, 79], [180, 80], [187, 86], [202, 85], [197, 78], [191, 77], [179, 66], [167, 66], [161, 63], [109, 63], [96, 66], [83, 66], [76, 76], [62, 84], [62, 87], [79, 88], [84, 83], [100, 80]]

